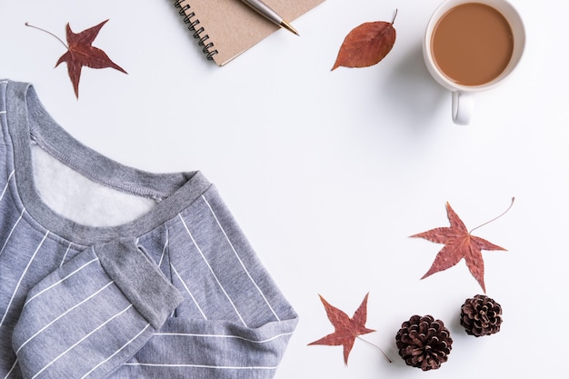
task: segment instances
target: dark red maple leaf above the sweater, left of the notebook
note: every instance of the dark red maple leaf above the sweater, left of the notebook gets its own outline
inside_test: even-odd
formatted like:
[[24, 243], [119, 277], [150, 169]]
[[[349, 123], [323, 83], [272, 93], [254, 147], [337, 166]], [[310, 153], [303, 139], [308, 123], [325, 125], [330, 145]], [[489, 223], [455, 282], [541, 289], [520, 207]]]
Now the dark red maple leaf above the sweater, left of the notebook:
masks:
[[69, 45], [67, 46], [67, 52], [61, 55], [55, 67], [62, 62], [67, 64], [67, 72], [71, 83], [73, 83], [75, 96], [77, 98], [79, 98], [81, 69], [84, 65], [91, 68], [111, 67], [126, 74], [126, 71], [119, 65], [116, 65], [103, 50], [92, 45], [95, 37], [99, 34], [99, 31], [107, 21], [108, 19], [80, 33], [74, 33], [69, 23], [67, 23], [66, 35], [67, 44]]

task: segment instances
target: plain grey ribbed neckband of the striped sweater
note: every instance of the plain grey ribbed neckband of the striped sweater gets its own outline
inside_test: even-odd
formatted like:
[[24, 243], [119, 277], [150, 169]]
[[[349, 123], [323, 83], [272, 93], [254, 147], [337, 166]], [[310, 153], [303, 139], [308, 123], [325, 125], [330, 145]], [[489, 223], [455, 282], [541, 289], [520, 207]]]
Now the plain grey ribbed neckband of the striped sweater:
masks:
[[[11, 82], [6, 86], [6, 120], [14, 149], [15, 185], [25, 213], [53, 234], [75, 244], [96, 244], [116, 238], [138, 237], [175, 217], [211, 185], [199, 171], [154, 174], [122, 165], [83, 145], [58, 125], [41, 104], [34, 86]], [[123, 191], [153, 198], [153, 209], [127, 224], [88, 226], [55, 213], [35, 187], [31, 144], [89, 179]]]

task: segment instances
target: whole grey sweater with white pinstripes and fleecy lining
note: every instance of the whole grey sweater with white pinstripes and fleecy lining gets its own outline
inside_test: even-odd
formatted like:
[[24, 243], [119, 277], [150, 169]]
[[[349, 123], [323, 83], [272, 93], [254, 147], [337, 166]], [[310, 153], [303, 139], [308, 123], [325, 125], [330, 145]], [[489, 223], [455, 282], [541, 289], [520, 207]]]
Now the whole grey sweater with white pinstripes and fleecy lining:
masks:
[[[275, 375], [297, 316], [204, 175], [97, 154], [24, 83], [0, 80], [0, 125], [0, 379]], [[86, 205], [47, 204], [37, 148], [152, 206], [119, 224], [76, 221], [101, 204], [86, 185]]]

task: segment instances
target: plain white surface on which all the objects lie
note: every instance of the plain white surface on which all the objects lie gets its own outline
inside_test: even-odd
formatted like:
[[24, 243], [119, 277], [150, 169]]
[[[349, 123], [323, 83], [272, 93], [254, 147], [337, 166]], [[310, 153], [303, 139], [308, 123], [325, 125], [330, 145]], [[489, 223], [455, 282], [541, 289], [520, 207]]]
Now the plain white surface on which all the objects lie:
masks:
[[[173, 0], [0, 0], [0, 76], [32, 82], [77, 139], [148, 171], [199, 169], [215, 183], [300, 314], [276, 378], [569, 377], [569, 86], [564, 0], [512, 0], [526, 26], [521, 64], [453, 125], [451, 95], [424, 68], [424, 27], [439, 0], [327, 0], [225, 67], [206, 61]], [[395, 20], [384, 61], [334, 72], [344, 35]], [[65, 38], [110, 18], [94, 45], [128, 72], [84, 68], [79, 100]], [[442, 247], [409, 238], [447, 226], [450, 202], [484, 252], [487, 294], [504, 307], [499, 334], [464, 334], [458, 313], [481, 293], [464, 261], [424, 280]], [[318, 294], [352, 315], [369, 295], [364, 337], [307, 346], [332, 333]], [[394, 335], [433, 314], [454, 338], [449, 361], [423, 373], [399, 358]]]

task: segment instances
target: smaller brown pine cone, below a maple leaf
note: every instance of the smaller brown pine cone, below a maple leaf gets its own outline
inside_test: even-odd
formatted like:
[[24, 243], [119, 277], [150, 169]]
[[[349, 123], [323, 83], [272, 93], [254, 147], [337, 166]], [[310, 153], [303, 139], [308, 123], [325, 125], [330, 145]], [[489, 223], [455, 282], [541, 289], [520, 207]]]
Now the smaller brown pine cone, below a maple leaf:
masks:
[[480, 337], [500, 332], [502, 306], [485, 294], [466, 299], [460, 310], [460, 324], [467, 334]]

